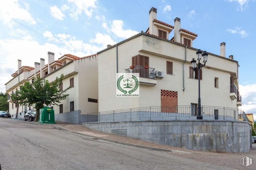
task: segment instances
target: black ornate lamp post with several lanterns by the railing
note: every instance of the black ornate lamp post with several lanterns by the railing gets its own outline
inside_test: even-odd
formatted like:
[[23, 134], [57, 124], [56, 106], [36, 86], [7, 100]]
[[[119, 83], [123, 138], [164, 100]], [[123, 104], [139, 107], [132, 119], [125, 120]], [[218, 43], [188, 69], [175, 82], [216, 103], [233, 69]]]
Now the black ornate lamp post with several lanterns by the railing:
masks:
[[[198, 64], [196, 65], [196, 60], [195, 58], [192, 59], [191, 61], [191, 65], [194, 71], [197, 71], [198, 73], [198, 107], [197, 107], [197, 117], [196, 119], [203, 119], [202, 116], [202, 108], [201, 108], [201, 98], [200, 98], [200, 69], [203, 68], [205, 66], [205, 63], [207, 62], [207, 57], [208, 54], [206, 53], [206, 51], [203, 52], [199, 49], [197, 52], [197, 60], [198, 60]], [[200, 60], [203, 57], [203, 63], [200, 63]]]

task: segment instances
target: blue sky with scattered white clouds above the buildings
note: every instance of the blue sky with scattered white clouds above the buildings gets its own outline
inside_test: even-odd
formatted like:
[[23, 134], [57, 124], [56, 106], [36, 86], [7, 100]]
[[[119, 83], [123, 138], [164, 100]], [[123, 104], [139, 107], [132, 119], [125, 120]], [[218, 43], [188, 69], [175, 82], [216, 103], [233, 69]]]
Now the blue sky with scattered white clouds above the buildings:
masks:
[[[47, 52], [55, 59], [70, 53], [78, 57], [95, 54], [148, 28], [151, 7], [157, 19], [198, 34], [193, 47], [239, 61], [239, 91], [246, 113], [256, 120], [256, 57], [254, 32], [256, 0], [0, 0], [0, 91], [22, 65], [34, 67]], [[169, 37], [173, 37], [172, 31]]]

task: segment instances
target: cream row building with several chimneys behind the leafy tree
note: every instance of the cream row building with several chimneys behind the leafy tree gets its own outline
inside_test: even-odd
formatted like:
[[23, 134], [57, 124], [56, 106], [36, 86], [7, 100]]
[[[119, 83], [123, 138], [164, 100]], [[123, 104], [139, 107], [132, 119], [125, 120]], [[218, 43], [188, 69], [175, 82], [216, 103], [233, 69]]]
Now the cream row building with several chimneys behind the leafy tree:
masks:
[[[65, 54], [55, 60], [54, 53], [48, 52], [48, 64], [44, 59], [40, 63], [35, 62], [34, 67], [22, 66], [22, 61], [18, 60], [18, 71], [12, 74], [12, 79], [8, 81], [6, 91], [9, 94], [19, 90], [19, 87], [26, 81], [32, 83], [34, 77], [42, 77], [50, 83], [56, 77], [64, 75], [61, 89], [71, 87], [67, 93], [69, 96], [59, 103], [59, 106], [49, 106], [55, 111], [55, 120], [82, 123], [86, 121], [83, 116], [86, 113], [98, 111], [98, 59], [97, 55], [77, 57]], [[23, 118], [29, 106], [15, 106], [8, 97], [9, 112], [15, 117], [16, 107], [19, 107], [18, 118]], [[30, 109], [33, 110], [32, 107]]]

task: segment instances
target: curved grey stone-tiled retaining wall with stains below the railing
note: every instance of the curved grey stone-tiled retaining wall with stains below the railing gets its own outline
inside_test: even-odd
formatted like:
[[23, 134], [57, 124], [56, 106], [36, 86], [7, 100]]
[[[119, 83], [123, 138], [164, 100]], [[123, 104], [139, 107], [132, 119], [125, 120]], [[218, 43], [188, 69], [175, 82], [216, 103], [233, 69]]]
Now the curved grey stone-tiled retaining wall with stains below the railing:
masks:
[[251, 147], [251, 125], [244, 121], [136, 121], [82, 123], [91, 129], [111, 133], [127, 129], [127, 136], [187, 149], [247, 153]]

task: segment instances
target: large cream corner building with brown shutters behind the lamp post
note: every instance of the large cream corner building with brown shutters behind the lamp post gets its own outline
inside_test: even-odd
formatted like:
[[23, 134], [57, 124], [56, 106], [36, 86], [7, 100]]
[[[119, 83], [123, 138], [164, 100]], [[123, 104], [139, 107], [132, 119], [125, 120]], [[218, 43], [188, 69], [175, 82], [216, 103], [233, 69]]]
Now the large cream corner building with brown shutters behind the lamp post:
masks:
[[[138, 107], [197, 106], [198, 77], [190, 61], [197, 58], [193, 41], [197, 34], [157, 19], [157, 9], [149, 11], [146, 32], [98, 52], [99, 111]], [[172, 38], [169, 34], [174, 32]], [[220, 55], [208, 53], [201, 70], [201, 104], [238, 108], [239, 64], [233, 55], [226, 57], [226, 43], [220, 44]], [[131, 67], [130, 67], [131, 66]], [[156, 71], [161, 75], [156, 75]], [[116, 73], [139, 72], [139, 97], [116, 97]], [[108, 100], [105, 100], [108, 97]], [[104, 102], [102, 102], [104, 101]], [[196, 113], [192, 113], [196, 114]]]

